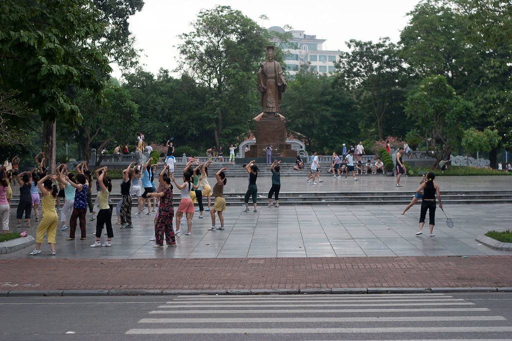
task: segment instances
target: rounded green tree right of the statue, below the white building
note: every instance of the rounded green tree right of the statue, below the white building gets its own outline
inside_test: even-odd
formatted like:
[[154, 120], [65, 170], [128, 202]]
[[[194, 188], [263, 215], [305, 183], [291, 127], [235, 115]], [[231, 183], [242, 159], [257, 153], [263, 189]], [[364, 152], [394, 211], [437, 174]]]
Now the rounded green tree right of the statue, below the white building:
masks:
[[286, 127], [289, 133], [299, 134], [310, 150], [336, 149], [337, 136], [355, 141], [359, 135], [356, 103], [333, 80], [303, 68], [288, 82], [282, 106]]

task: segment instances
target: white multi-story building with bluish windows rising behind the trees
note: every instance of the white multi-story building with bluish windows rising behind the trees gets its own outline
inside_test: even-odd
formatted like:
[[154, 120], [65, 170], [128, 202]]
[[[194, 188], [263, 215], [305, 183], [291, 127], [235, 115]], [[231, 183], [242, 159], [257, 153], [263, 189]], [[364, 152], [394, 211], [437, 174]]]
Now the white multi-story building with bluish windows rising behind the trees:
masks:
[[[269, 31], [285, 33], [279, 26], [272, 26]], [[291, 30], [291, 40], [287, 43], [286, 70], [295, 75], [300, 65], [309, 63], [311, 71], [330, 75], [335, 71], [334, 62], [339, 59], [340, 51], [323, 50], [326, 39], [317, 39], [316, 35], [304, 34], [304, 31]]]

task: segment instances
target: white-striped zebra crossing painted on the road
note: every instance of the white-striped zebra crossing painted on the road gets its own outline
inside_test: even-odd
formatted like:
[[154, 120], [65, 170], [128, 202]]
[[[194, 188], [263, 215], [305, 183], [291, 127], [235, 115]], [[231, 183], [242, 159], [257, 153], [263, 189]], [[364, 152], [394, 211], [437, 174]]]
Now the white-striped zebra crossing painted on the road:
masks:
[[439, 294], [178, 296], [131, 335], [166, 339], [511, 340], [512, 324], [466, 299]]

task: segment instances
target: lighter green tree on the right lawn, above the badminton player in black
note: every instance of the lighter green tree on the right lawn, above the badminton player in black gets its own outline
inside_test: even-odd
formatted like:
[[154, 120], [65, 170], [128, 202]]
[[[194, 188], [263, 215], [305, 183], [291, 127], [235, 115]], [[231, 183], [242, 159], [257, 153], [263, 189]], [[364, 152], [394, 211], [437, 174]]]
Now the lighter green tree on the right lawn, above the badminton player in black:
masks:
[[473, 104], [455, 93], [443, 76], [425, 77], [411, 90], [405, 111], [424, 136], [427, 153], [441, 160], [450, 158], [464, 129], [471, 124]]

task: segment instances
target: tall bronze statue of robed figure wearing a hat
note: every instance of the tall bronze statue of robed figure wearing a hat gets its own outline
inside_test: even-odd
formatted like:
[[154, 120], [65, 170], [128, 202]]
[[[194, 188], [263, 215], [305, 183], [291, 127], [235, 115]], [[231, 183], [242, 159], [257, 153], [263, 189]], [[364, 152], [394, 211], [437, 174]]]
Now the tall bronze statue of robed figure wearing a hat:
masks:
[[280, 111], [279, 105], [287, 84], [281, 64], [274, 60], [273, 46], [267, 46], [267, 61], [260, 63], [257, 76], [263, 116], [274, 117]]

